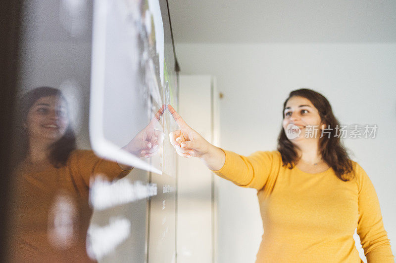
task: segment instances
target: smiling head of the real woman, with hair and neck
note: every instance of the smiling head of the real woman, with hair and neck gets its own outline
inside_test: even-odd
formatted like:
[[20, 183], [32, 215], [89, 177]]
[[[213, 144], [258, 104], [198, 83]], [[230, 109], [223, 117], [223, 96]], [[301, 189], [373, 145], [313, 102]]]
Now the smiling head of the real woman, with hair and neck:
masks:
[[[278, 151], [282, 155], [283, 165], [289, 169], [297, 166], [311, 173], [331, 167], [343, 181], [353, 176], [347, 149], [337, 135], [336, 127], [340, 126], [340, 122], [322, 94], [311, 89], [290, 92], [283, 104], [282, 116]], [[288, 136], [289, 125], [297, 126], [301, 131], [300, 136]]]

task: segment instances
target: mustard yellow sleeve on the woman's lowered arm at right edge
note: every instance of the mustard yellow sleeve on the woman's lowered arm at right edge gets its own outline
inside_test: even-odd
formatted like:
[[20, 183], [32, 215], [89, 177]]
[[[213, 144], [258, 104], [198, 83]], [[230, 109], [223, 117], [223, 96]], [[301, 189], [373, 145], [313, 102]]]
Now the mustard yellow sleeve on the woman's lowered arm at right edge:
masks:
[[360, 236], [367, 263], [394, 263], [390, 240], [382, 222], [377, 194], [370, 178], [357, 163], [356, 176], [359, 206], [357, 233]]

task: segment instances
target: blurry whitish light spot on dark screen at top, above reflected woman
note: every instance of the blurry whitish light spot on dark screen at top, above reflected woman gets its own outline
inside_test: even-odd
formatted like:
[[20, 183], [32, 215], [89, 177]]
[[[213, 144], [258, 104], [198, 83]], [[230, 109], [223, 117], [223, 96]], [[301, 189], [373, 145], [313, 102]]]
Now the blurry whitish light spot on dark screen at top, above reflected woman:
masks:
[[71, 36], [79, 37], [87, 33], [88, 6], [86, 0], [61, 0], [59, 21]]

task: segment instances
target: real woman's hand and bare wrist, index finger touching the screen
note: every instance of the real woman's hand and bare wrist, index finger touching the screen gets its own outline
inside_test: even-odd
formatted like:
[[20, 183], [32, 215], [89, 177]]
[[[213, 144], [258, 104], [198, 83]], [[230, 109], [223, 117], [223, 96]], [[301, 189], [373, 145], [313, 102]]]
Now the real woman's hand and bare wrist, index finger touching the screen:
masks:
[[225, 162], [224, 151], [210, 144], [187, 125], [169, 104], [168, 110], [180, 128], [180, 130], [172, 131], [169, 134], [170, 143], [175, 147], [177, 154], [186, 158], [198, 157], [210, 170], [219, 170]]

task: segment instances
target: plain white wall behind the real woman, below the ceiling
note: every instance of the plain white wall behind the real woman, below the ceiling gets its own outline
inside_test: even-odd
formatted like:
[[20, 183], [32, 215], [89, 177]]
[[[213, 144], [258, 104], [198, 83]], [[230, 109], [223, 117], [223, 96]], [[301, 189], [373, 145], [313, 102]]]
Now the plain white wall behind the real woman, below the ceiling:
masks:
[[[217, 78], [224, 93], [224, 149], [245, 155], [275, 150], [283, 102], [291, 90], [301, 87], [325, 95], [343, 124], [377, 124], [375, 139], [346, 139], [345, 144], [374, 184], [395, 254], [396, 43], [179, 43], [176, 53], [182, 74]], [[221, 182], [218, 263], [254, 262], [262, 234], [256, 190]], [[358, 247], [365, 261], [360, 243]]]

